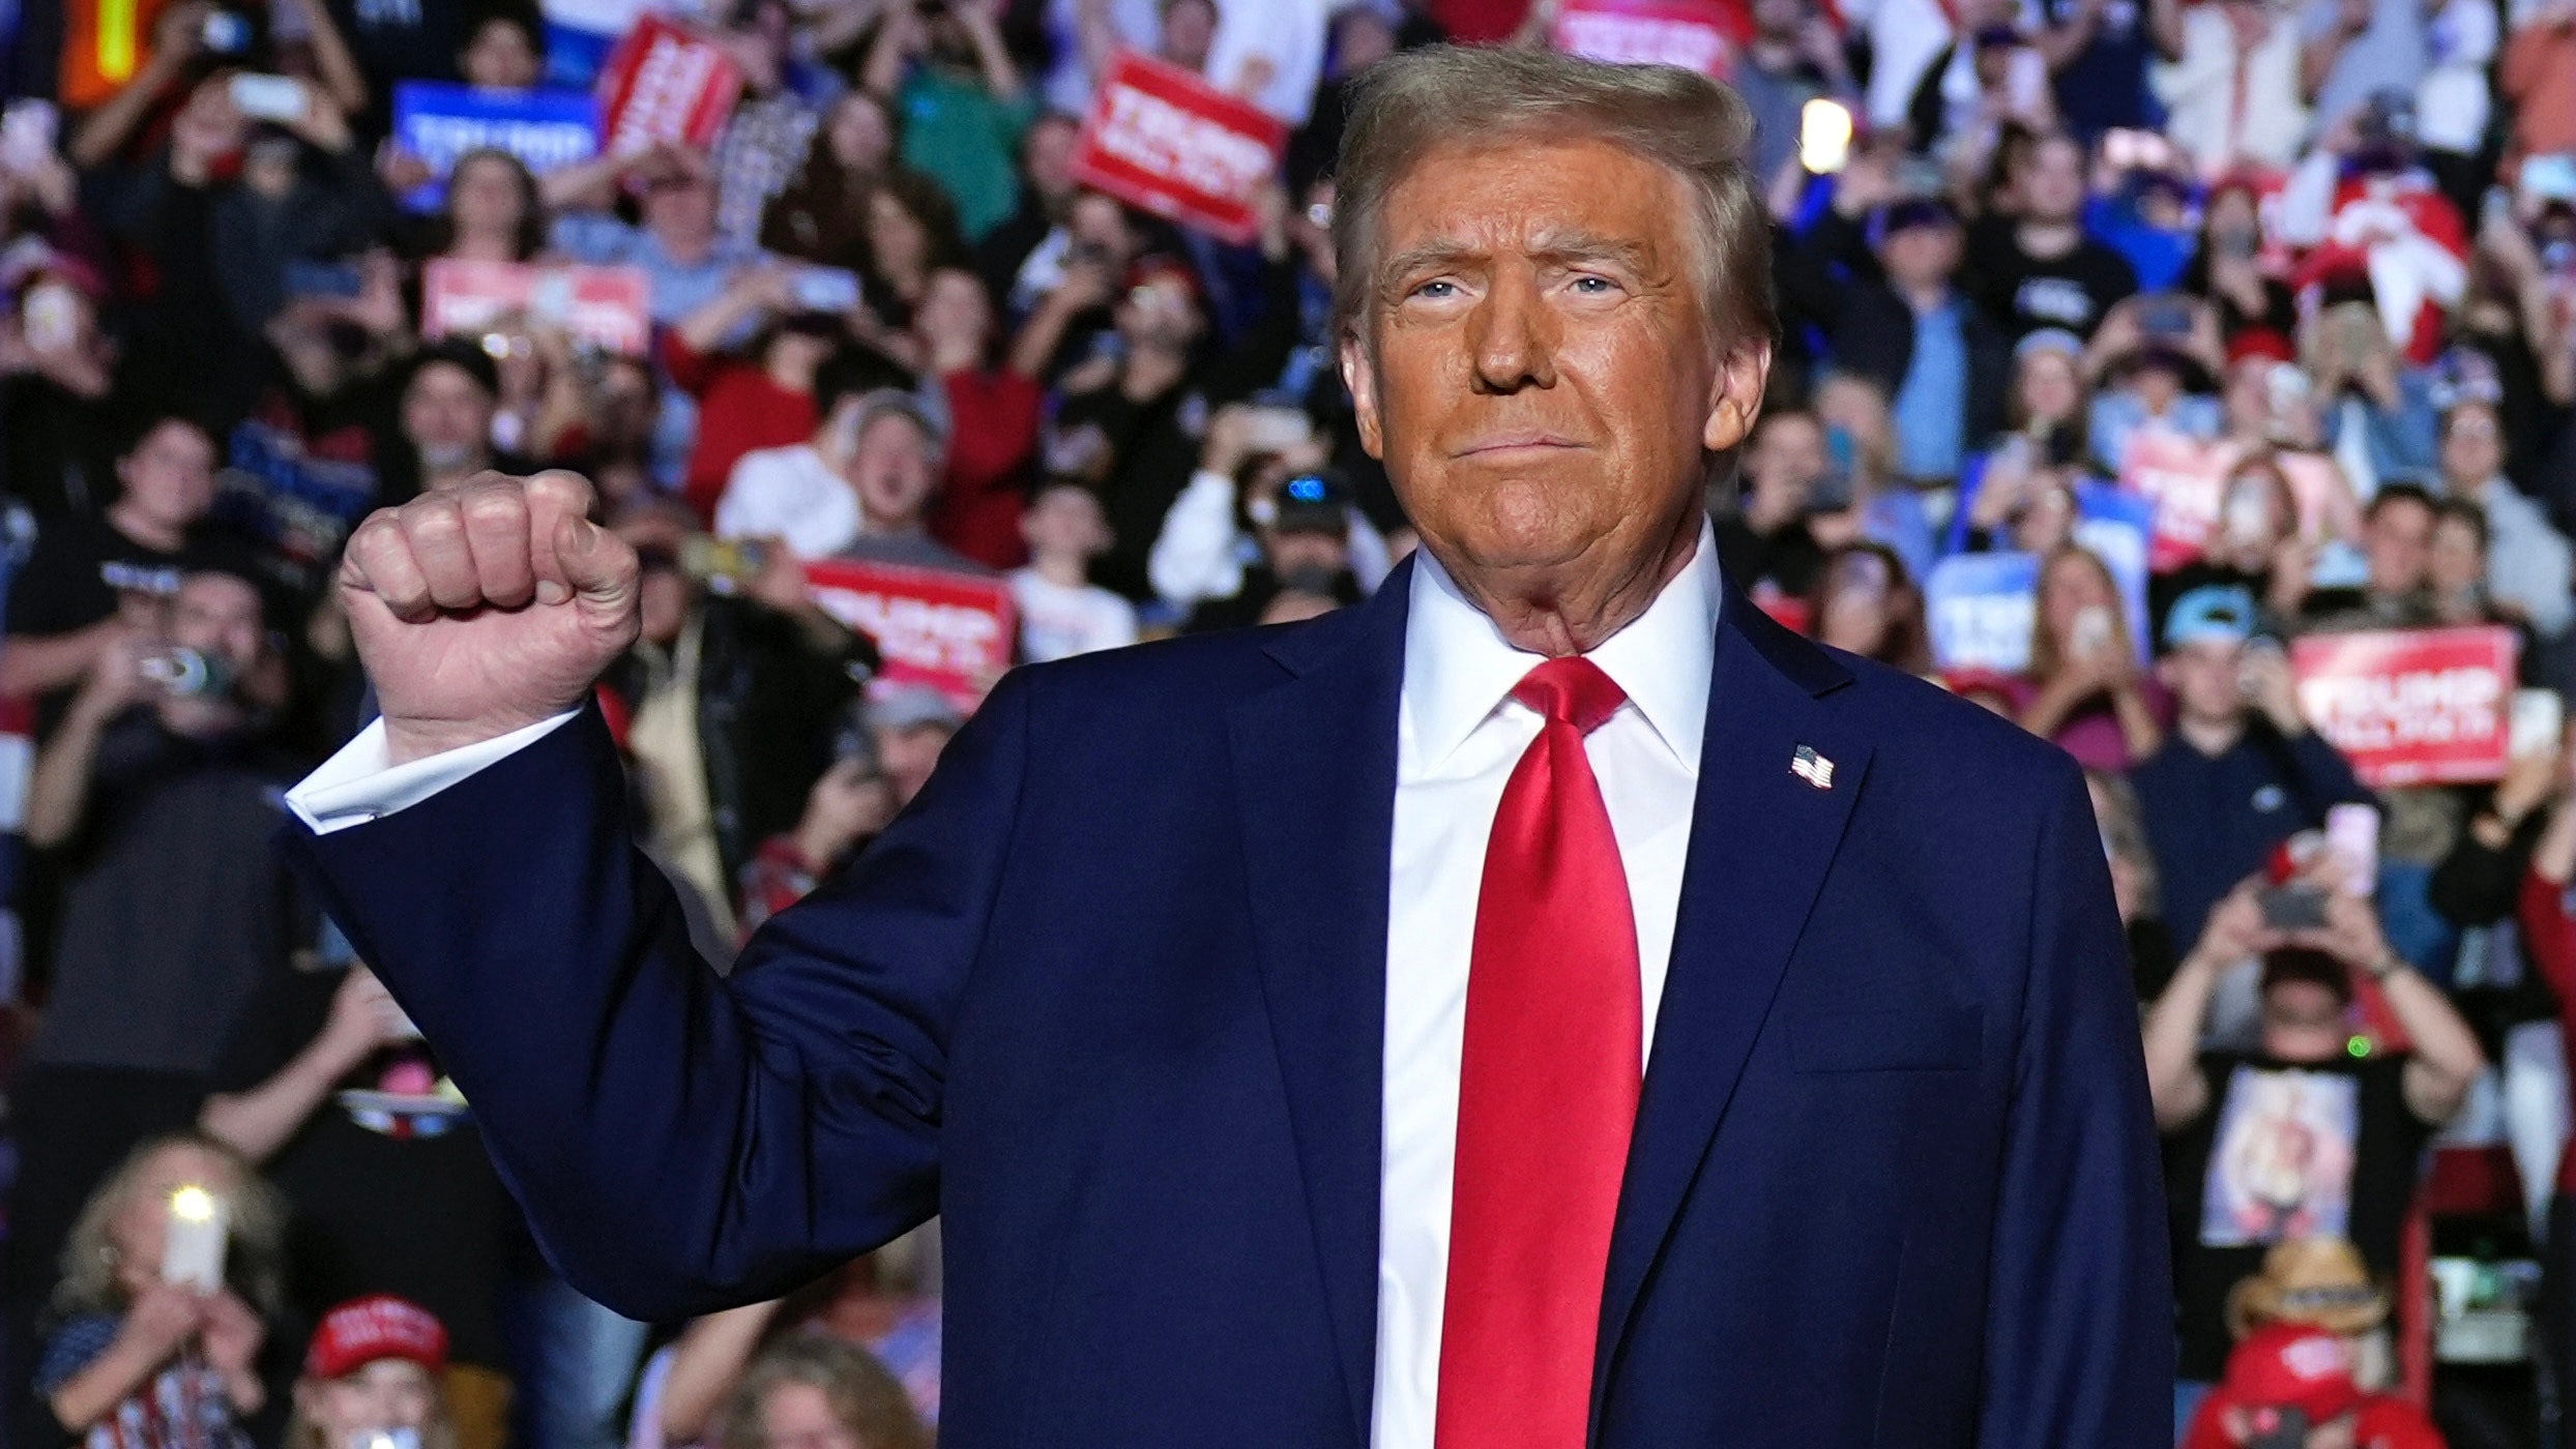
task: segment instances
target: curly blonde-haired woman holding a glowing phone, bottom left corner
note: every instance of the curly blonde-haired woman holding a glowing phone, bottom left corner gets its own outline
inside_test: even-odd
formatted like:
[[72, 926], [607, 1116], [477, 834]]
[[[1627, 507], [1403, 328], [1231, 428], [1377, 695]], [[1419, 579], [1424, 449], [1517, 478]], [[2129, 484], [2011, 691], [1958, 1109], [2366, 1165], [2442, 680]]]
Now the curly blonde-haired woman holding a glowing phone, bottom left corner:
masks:
[[[178, 1220], [214, 1220], [219, 1287], [170, 1282]], [[90, 1449], [250, 1449], [260, 1349], [283, 1302], [286, 1210], [232, 1148], [173, 1132], [134, 1148], [62, 1248], [36, 1392]]]

